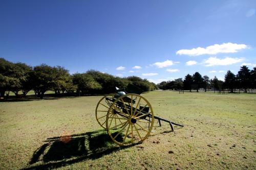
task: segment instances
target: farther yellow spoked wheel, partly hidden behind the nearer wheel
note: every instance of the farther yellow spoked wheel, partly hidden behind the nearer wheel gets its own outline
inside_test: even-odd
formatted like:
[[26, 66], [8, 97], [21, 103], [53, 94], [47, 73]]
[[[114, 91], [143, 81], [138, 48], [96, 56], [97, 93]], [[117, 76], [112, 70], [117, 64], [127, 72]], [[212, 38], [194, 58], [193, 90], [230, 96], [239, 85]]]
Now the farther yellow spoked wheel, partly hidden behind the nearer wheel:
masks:
[[106, 129], [106, 114], [108, 114], [110, 106], [115, 101], [115, 95], [117, 94], [111, 93], [105, 95], [103, 98], [100, 99], [95, 110], [97, 122], [104, 129]]

